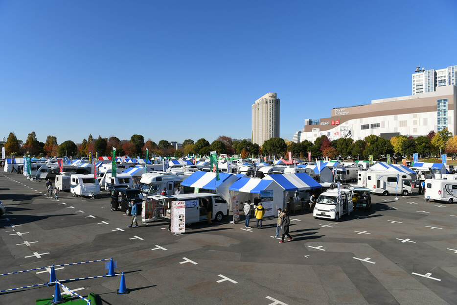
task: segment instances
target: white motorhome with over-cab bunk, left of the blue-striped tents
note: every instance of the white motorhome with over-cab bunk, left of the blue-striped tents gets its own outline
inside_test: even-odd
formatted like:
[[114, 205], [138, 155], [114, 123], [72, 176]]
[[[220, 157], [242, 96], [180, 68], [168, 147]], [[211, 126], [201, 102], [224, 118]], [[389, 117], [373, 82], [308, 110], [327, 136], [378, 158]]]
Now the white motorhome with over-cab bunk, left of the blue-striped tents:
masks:
[[181, 182], [190, 176], [190, 172], [152, 172], [143, 174], [139, 181], [144, 196], [159, 195], [166, 188], [168, 195], [173, 195]]

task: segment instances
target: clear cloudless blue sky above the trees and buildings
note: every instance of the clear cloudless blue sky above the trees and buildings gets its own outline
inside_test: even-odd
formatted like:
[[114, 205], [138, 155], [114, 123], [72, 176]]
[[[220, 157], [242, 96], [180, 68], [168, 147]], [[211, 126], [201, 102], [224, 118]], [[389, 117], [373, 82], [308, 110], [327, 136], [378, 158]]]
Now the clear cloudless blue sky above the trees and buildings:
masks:
[[275, 92], [292, 139], [457, 65], [456, 29], [455, 0], [0, 0], [0, 138], [251, 138]]

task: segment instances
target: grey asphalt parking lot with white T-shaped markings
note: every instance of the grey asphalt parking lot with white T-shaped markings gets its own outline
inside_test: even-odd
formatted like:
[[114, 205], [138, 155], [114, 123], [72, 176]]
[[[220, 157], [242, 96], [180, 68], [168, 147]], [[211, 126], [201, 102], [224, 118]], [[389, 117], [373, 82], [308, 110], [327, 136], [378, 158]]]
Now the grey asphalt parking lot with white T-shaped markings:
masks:
[[[422, 196], [372, 195], [371, 211], [341, 222], [291, 215], [291, 242], [272, 236], [276, 220], [201, 223], [183, 235], [165, 222], [129, 229], [109, 197], [47, 198], [45, 183], [0, 173], [1, 273], [111, 258], [120, 276], [69, 281], [103, 304], [456, 304], [457, 205]], [[243, 219], [243, 218], [242, 218]], [[253, 222], [251, 220], [251, 225]], [[60, 268], [60, 269], [58, 269]], [[105, 275], [105, 261], [56, 267], [58, 280]], [[0, 276], [0, 290], [46, 283], [40, 269]], [[0, 293], [1, 304], [50, 298], [47, 285]], [[64, 291], [62, 292], [64, 294]]]

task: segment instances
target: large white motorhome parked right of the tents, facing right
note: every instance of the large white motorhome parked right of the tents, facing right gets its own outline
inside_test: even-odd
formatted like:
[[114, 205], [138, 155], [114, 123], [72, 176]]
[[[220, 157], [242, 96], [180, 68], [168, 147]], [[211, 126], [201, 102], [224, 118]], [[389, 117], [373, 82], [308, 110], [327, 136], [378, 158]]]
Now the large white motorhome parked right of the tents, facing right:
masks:
[[[397, 183], [398, 176], [398, 183]], [[410, 174], [395, 173], [384, 170], [364, 170], [359, 171], [358, 185], [369, 188], [373, 193], [383, 194], [402, 194], [407, 196], [416, 192]]]

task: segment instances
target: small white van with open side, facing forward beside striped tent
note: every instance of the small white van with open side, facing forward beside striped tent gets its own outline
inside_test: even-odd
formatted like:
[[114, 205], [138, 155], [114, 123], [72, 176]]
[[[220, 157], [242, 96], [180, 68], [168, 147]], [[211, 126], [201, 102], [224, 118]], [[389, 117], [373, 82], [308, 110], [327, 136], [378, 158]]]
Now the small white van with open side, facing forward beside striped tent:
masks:
[[340, 217], [344, 214], [350, 215], [353, 209], [351, 190], [341, 188], [340, 193], [341, 198], [338, 195], [338, 188], [321, 193], [314, 206], [314, 219], [327, 218], [340, 221]]

